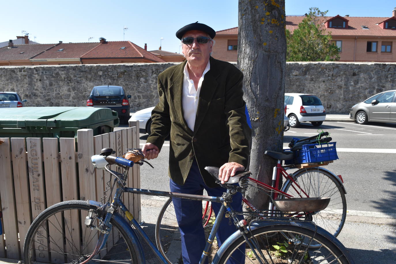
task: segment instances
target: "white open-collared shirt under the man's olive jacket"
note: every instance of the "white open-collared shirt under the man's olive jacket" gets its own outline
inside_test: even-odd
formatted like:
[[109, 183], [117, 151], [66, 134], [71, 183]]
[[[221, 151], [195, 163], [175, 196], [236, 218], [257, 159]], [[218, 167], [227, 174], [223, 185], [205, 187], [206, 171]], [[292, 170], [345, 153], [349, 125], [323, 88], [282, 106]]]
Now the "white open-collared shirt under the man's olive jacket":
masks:
[[206, 65], [204, 73], [198, 82], [198, 88], [195, 90], [194, 81], [190, 79], [190, 75], [188, 74], [187, 63], [184, 67], [184, 78], [183, 78], [183, 96], [182, 96], [182, 104], [183, 104], [183, 116], [187, 122], [188, 127], [194, 131], [195, 125], [195, 117], [197, 113], [198, 107], [198, 99], [199, 93], [201, 91], [202, 82], [204, 81], [204, 76], [206, 72], [210, 70], [210, 64]]

